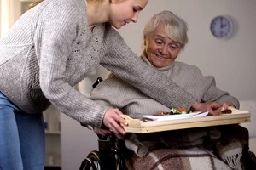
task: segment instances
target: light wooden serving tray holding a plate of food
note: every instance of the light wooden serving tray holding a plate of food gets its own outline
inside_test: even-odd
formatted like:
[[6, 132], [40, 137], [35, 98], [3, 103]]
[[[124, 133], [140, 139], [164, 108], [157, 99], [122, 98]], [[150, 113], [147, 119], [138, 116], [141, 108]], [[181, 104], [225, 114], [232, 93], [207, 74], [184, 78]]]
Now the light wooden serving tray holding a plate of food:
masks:
[[210, 127], [251, 121], [251, 113], [249, 113], [249, 111], [236, 110], [233, 107], [229, 107], [229, 109], [232, 110], [231, 114], [185, 118], [160, 122], [143, 122], [140, 119], [132, 119], [130, 116], [123, 115], [126, 121], [129, 123], [129, 125], [124, 126], [124, 128], [126, 133], [154, 133], [192, 127]]

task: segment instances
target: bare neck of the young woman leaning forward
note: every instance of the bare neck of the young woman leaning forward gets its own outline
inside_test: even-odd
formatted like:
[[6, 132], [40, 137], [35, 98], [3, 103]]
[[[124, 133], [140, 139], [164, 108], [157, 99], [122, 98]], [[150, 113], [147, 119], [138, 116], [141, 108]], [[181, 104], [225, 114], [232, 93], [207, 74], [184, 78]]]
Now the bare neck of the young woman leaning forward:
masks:
[[[86, 0], [85, 0], [86, 2]], [[87, 5], [87, 19], [90, 30], [97, 24], [108, 22], [108, 8], [109, 1], [105, 0], [102, 3], [86, 2]]]

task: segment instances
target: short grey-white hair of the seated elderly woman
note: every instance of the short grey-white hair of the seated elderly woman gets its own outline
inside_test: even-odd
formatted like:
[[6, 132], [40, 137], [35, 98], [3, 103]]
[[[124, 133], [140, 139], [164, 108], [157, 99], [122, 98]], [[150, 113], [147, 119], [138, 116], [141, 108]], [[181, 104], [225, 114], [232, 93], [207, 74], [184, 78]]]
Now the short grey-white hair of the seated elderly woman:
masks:
[[154, 16], [148, 21], [143, 30], [144, 37], [147, 37], [152, 33], [161, 23], [164, 24], [166, 28], [166, 35], [171, 37], [173, 41], [180, 43], [182, 47], [189, 42], [187, 35], [187, 23], [176, 14], [167, 10], [154, 14]]

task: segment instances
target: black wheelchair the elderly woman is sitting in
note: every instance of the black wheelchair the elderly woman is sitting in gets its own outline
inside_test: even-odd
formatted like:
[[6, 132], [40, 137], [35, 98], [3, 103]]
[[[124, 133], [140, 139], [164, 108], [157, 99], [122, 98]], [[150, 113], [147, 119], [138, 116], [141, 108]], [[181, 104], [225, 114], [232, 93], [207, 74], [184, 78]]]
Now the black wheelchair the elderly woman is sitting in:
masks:
[[[93, 84], [93, 88], [102, 81], [98, 78]], [[91, 151], [82, 161], [80, 170], [128, 170], [125, 160], [131, 158], [131, 150], [125, 147], [123, 140], [115, 135], [108, 137], [98, 135], [98, 150]], [[243, 148], [241, 163], [244, 169], [256, 169], [256, 156], [249, 151], [248, 145]]]

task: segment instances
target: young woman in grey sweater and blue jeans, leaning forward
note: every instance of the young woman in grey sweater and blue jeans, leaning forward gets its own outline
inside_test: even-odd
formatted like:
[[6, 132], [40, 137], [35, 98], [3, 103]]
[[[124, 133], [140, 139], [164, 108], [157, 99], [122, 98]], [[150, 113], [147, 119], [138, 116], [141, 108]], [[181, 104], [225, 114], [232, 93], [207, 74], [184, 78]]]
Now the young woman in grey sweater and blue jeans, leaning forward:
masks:
[[44, 0], [15, 22], [0, 41], [1, 169], [44, 168], [42, 111], [51, 104], [84, 124], [125, 133], [121, 111], [73, 88], [98, 64], [164, 105], [212, 109], [144, 64], [115, 31], [137, 22], [147, 3]]

